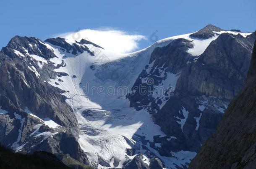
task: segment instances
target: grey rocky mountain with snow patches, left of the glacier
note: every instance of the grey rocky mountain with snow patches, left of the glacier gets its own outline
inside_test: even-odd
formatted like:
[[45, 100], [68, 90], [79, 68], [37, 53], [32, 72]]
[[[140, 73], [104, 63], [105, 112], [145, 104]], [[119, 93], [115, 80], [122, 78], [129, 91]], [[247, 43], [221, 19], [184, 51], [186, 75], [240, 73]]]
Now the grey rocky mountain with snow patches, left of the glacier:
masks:
[[[47, 64], [31, 55], [46, 59]], [[54, 57], [41, 40], [18, 36], [0, 52], [0, 108], [8, 112], [0, 115], [0, 143], [22, 153], [70, 154], [89, 164], [77, 142], [76, 116], [61, 94], [65, 91], [46, 82], [57, 76], [54, 64], [47, 60]], [[45, 118], [60, 127], [46, 126]]]

